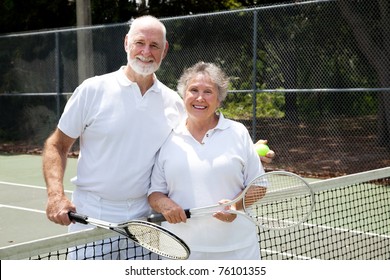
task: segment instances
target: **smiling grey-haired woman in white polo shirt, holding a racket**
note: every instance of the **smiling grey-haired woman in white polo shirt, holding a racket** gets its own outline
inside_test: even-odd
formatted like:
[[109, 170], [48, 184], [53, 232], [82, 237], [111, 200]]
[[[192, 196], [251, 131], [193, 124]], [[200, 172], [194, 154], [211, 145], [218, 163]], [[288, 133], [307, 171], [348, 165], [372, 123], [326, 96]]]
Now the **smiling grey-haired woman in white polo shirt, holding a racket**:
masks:
[[190, 259], [260, 259], [256, 227], [247, 219], [227, 211], [187, 219], [183, 210], [232, 200], [264, 173], [245, 126], [218, 112], [228, 84], [212, 63], [184, 71], [178, 92], [187, 119], [161, 147], [152, 173], [149, 203], [190, 246]]

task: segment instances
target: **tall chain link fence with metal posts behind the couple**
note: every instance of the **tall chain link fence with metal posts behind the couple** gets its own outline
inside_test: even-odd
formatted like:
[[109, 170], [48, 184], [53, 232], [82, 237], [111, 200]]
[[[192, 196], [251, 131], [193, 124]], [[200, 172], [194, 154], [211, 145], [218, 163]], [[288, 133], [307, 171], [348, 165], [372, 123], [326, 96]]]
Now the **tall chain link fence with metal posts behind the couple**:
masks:
[[[221, 109], [267, 139], [267, 169], [339, 176], [390, 165], [387, 1], [308, 1], [164, 18], [159, 79], [202, 60], [231, 77]], [[85, 78], [119, 69], [128, 23], [0, 37], [0, 149], [41, 146]], [[1, 150], [0, 150], [1, 152]]]

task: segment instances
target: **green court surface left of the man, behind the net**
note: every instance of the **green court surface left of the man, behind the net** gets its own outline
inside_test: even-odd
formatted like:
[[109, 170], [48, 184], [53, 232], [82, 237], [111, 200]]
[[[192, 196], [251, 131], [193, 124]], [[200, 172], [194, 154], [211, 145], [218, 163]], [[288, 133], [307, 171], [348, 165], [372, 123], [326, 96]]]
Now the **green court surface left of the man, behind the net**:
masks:
[[[76, 165], [76, 159], [68, 160], [64, 185], [69, 197]], [[0, 155], [0, 247], [65, 233], [66, 227], [46, 218], [45, 208], [41, 156]]]

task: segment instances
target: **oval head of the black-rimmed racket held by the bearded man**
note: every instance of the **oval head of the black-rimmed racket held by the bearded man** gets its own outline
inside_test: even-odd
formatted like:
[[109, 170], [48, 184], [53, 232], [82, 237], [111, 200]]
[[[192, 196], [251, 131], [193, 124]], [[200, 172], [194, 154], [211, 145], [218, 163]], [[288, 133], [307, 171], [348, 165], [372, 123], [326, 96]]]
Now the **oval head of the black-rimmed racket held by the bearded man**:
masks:
[[186, 260], [190, 255], [190, 248], [181, 238], [156, 224], [134, 220], [123, 229], [135, 243], [165, 258]]

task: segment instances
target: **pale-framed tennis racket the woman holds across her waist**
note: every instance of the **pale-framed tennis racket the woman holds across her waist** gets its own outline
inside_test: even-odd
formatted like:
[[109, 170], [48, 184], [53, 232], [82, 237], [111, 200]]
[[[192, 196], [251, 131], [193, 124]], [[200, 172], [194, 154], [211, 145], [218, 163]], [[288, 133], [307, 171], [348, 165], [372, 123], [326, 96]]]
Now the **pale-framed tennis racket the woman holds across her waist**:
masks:
[[[224, 210], [241, 201], [243, 211]], [[302, 177], [291, 172], [274, 171], [256, 177], [238, 197], [228, 203], [184, 211], [187, 218], [226, 211], [244, 216], [262, 228], [281, 230], [306, 221], [314, 203], [314, 193]], [[153, 214], [148, 221], [162, 222], [165, 218], [162, 214]]]

